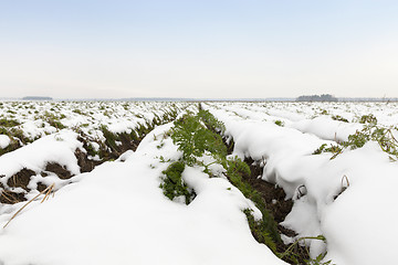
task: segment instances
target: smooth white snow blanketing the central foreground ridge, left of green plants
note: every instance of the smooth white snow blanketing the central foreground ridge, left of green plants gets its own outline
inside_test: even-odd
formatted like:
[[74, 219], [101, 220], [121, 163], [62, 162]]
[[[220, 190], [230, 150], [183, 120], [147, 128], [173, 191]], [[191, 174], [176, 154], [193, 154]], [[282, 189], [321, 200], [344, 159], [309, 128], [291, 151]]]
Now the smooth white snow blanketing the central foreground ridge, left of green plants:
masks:
[[[123, 155], [125, 162], [105, 162], [76, 176], [74, 183], [44, 203], [33, 202], [0, 231], [0, 261], [7, 265], [285, 264], [252, 237], [242, 210], [253, 204], [226, 179], [187, 168], [184, 178], [197, 191], [193, 202], [185, 205], [163, 194], [160, 176], [169, 163], [158, 157], [177, 159], [180, 152], [169, 138], [154, 140], [154, 135], [165, 135], [169, 128], [165, 125], [149, 134], [136, 152]], [[158, 149], [160, 141], [164, 146]], [[10, 215], [0, 215], [0, 224]]]

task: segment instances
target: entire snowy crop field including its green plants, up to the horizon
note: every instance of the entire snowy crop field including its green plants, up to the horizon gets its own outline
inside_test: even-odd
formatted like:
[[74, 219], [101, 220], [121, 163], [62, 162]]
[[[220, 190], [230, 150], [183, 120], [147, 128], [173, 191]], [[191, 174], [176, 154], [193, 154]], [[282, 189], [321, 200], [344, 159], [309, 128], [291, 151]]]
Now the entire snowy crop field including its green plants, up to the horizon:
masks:
[[[270, 264], [394, 259], [392, 254], [380, 257], [377, 243], [394, 245], [398, 235], [394, 225], [383, 225], [398, 222], [394, 104], [3, 102], [0, 112], [0, 223], [8, 225], [32, 200], [7, 227], [15, 244], [0, 236], [6, 262], [21, 245], [32, 245], [23, 233], [45, 241], [30, 225], [42, 231], [76, 216], [82, 223], [67, 224], [57, 244], [82, 232], [95, 234], [100, 226], [108, 233], [109, 221], [117, 220], [117, 241], [128, 235], [136, 247], [172, 234], [184, 254], [166, 251], [170, 264], [192, 257], [197, 264], [241, 264], [248, 256]], [[56, 199], [39, 208], [35, 198], [54, 191]], [[112, 209], [128, 222], [114, 219]], [[94, 216], [100, 226], [91, 226]], [[145, 229], [136, 230], [136, 222]], [[377, 241], [358, 241], [364, 231]], [[208, 250], [203, 236], [211, 236], [211, 248], [218, 250], [206, 252], [210, 259], [192, 248]], [[97, 261], [115, 258], [98, 245], [88, 254], [76, 247], [76, 258], [52, 247], [53, 258], [82, 264], [94, 252], [101, 253]], [[117, 245], [115, 253], [124, 247]], [[241, 252], [231, 254], [237, 247]], [[33, 261], [27, 253], [20, 263]], [[144, 258], [130, 255], [117, 257]]]

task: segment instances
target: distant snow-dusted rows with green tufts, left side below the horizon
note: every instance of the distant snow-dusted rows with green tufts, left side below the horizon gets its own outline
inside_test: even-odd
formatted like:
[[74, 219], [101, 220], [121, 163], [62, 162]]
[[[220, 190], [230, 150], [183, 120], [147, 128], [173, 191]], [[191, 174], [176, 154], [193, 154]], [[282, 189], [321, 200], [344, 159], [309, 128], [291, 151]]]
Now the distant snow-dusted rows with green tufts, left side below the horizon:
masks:
[[0, 135], [10, 140], [0, 140], [0, 153], [9, 151], [4, 149], [11, 140], [23, 146], [63, 128], [105, 140], [104, 127], [113, 134], [129, 134], [189, 108], [187, 103], [163, 102], [0, 102]]

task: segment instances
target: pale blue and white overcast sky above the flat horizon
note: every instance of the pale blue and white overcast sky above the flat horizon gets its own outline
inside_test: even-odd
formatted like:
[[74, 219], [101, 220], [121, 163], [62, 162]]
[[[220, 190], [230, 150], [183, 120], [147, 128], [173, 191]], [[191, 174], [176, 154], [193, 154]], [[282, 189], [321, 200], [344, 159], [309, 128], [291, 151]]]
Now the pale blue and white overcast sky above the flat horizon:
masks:
[[398, 97], [398, 1], [2, 0], [0, 97]]

